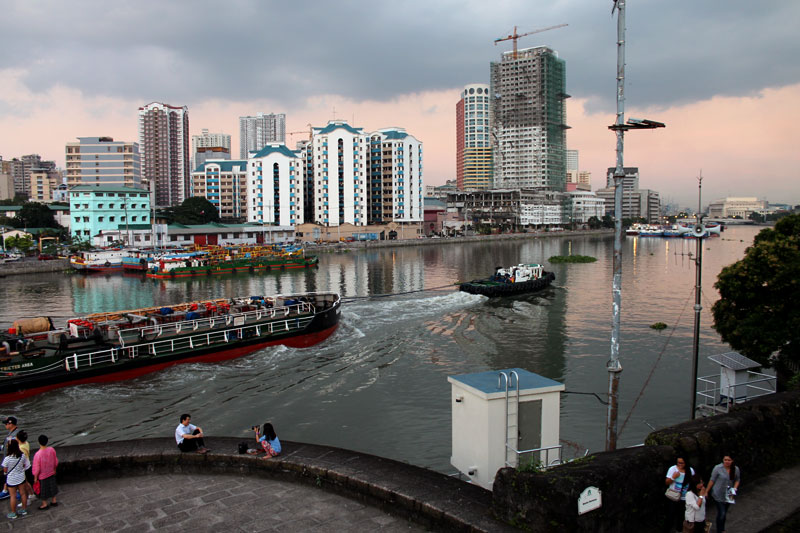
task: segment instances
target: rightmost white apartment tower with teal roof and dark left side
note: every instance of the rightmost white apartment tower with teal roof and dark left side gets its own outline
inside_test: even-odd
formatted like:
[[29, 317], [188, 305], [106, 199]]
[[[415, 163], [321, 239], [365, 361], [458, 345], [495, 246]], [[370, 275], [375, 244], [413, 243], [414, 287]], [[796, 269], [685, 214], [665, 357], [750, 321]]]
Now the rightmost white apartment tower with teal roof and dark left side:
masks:
[[369, 147], [369, 199], [357, 204], [368, 208], [368, 221], [421, 222], [422, 143], [403, 128], [385, 128], [370, 134]]

